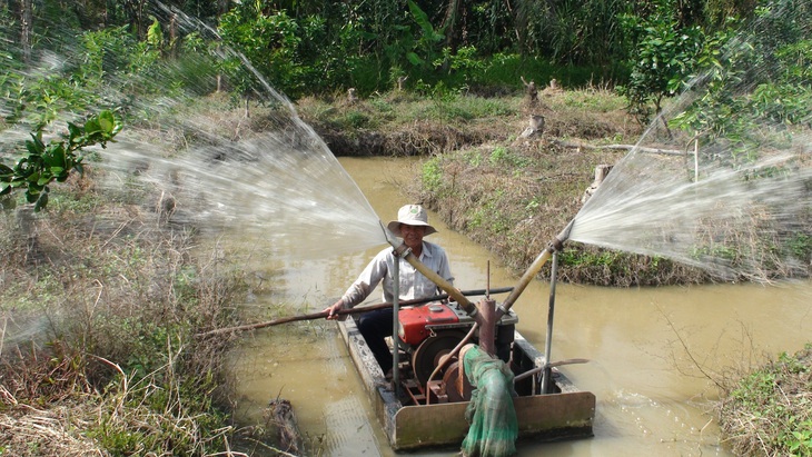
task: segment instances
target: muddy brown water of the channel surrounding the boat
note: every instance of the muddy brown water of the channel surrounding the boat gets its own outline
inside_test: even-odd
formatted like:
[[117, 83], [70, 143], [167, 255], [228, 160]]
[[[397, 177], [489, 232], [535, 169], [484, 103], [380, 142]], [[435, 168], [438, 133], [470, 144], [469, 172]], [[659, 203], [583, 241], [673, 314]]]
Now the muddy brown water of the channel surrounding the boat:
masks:
[[[341, 159], [384, 222], [415, 160]], [[428, 239], [448, 252], [461, 289], [514, 286], [517, 277], [433, 213]], [[304, 242], [318, 240], [303, 237]], [[295, 245], [295, 242], [291, 242]], [[258, 261], [247, 306], [261, 316], [320, 311], [360, 272], [378, 248], [323, 258]], [[261, 260], [261, 259], [260, 259]], [[533, 281], [514, 309], [518, 329], [544, 350], [549, 285]], [[558, 284], [552, 359], [590, 359], [562, 371], [597, 397], [593, 438], [519, 441], [519, 456], [730, 456], [713, 415], [722, 376], [764, 356], [794, 352], [812, 340], [812, 284], [711, 285], [615, 289]], [[497, 296], [497, 299], [505, 297]], [[368, 302], [378, 302], [373, 294]], [[323, 456], [395, 456], [382, 434], [335, 326], [324, 320], [252, 331], [235, 360], [238, 413], [261, 420], [268, 400], [291, 401], [305, 438]], [[456, 449], [403, 453], [452, 456]]]

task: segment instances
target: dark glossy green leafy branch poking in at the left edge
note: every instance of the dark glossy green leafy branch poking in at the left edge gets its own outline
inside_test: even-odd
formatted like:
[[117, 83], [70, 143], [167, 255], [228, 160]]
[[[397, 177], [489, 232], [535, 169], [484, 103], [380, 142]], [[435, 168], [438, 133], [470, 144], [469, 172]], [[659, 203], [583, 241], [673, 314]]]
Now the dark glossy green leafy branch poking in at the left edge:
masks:
[[49, 185], [63, 182], [72, 170], [83, 172], [81, 151], [100, 145], [102, 148], [121, 130], [122, 125], [110, 111], [91, 116], [85, 126], [68, 122], [68, 135], [61, 140], [42, 141], [42, 130], [31, 133], [26, 141], [28, 153], [13, 168], [0, 163], [0, 196], [24, 189], [26, 200], [34, 203], [34, 211], [48, 205]]

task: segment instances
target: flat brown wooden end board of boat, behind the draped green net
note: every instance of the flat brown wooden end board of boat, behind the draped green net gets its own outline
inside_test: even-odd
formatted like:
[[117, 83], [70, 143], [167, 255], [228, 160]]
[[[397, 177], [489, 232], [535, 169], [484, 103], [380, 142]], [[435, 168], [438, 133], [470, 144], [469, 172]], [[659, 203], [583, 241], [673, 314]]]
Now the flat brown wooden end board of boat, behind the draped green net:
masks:
[[[406, 406], [395, 415], [393, 447], [459, 445], [468, 433], [468, 403]], [[591, 393], [514, 398], [519, 438], [564, 439], [592, 436], [595, 396]]]

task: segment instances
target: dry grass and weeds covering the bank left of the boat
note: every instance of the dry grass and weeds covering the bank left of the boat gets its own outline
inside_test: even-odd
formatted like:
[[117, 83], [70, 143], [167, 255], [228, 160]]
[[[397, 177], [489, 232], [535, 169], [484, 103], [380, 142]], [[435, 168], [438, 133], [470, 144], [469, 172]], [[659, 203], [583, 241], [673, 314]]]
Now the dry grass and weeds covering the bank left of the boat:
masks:
[[158, 196], [52, 191], [0, 220], [0, 449], [17, 456], [240, 455], [224, 357], [240, 277]]

